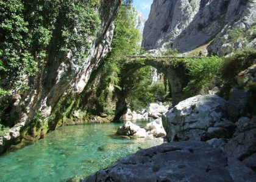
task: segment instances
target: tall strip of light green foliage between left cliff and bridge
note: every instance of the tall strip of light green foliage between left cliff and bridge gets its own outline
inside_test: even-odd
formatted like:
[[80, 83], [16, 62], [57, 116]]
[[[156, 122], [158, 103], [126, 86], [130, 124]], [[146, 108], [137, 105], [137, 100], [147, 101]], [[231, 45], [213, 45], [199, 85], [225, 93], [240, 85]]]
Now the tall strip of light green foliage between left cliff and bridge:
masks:
[[123, 67], [126, 56], [136, 55], [140, 51], [138, 42], [141, 36], [135, 29], [135, 9], [130, 5], [130, 1], [124, 2], [119, 8], [115, 20], [115, 31], [112, 41], [112, 51], [108, 53], [105, 64], [101, 70], [101, 85], [97, 90], [98, 101], [108, 110], [107, 98], [111, 97], [112, 92], [108, 86], [112, 85], [116, 89], [119, 87], [119, 73]]

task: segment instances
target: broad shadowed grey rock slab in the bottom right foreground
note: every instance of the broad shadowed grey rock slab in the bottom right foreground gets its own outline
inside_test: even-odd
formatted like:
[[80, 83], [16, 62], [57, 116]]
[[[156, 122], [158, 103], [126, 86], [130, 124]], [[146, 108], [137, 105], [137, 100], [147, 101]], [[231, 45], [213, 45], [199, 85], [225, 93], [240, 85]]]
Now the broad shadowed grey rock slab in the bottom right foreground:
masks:
[[255, 180], [256, 174], [251, 169], [220, 149], [201, 141], [184, 141], [140, 150], [83, 181]]

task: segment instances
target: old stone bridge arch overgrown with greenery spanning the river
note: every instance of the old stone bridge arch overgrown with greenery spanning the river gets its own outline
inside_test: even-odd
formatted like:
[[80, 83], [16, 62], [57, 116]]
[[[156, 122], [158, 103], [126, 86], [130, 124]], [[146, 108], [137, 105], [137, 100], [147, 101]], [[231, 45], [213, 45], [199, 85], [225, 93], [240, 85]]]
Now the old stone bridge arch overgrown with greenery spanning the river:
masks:
[[184, 62], [183, 57], [130, 57], [124, 60], [123, 69], [119, 75], [119, 87], [121, 90], [116, 90], [116, 96], [118, 100], [116, 101], [116, 110], [114, 120], [119, 120], [124, 113], [127, 112], [127, 96], [129, 92], [124, 89], [124, 83], [126, 79], [135, 73], [137, 70], [145, 66], [151, 66], [158, 70], [158, 72], [163, 73], [168, 79], [168, 84], [171, 86], [171, 96], [172, 104], [176, 105], [184, 99], [183, 96], [183, 80], [180, 75], [186, 74], [188, 70]]

